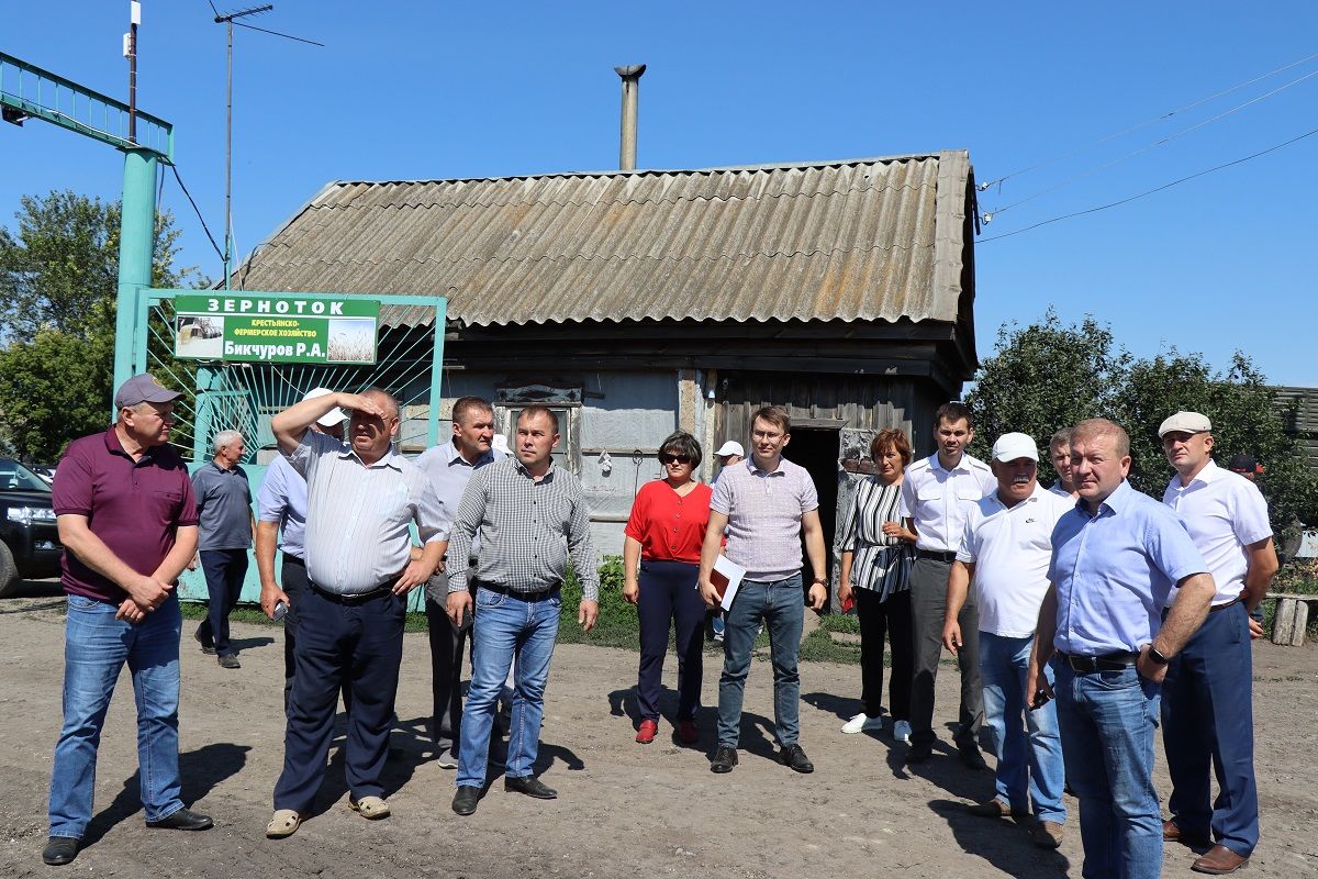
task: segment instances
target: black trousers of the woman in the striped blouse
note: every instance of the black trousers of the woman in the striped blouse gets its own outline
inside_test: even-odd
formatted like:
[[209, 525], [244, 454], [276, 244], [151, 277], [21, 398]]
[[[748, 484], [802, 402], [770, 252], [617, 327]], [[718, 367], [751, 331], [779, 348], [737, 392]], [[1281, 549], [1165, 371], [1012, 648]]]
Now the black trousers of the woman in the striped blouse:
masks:
[[869, 717], [883, 713], [883, 638], [892, 644], [888, 675], [888, 713], [895, 721], [911, 720], [911, 679], [915, 675], [915, 642], [911, 639], [911, 592], [903, 589], [887, 601], [869, 589], [855, 589], [855, 615], [861, 621], [861, 701]]

